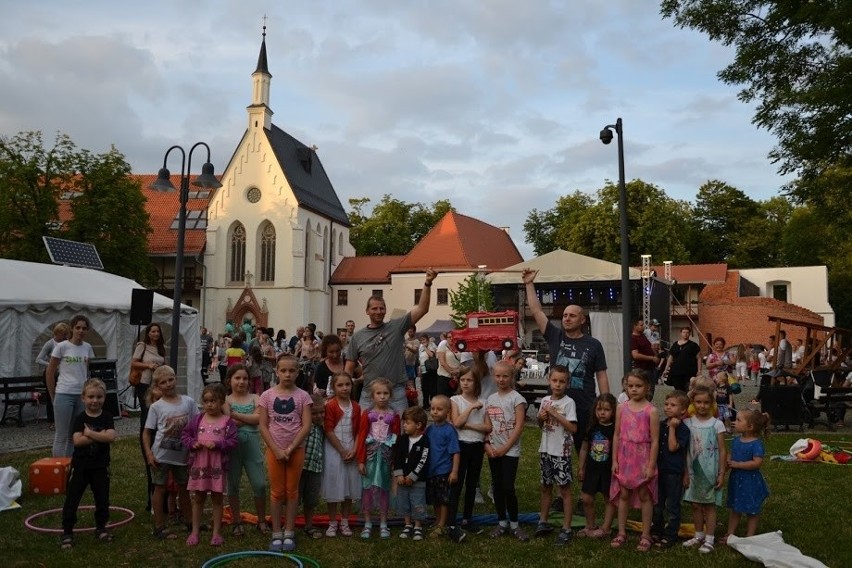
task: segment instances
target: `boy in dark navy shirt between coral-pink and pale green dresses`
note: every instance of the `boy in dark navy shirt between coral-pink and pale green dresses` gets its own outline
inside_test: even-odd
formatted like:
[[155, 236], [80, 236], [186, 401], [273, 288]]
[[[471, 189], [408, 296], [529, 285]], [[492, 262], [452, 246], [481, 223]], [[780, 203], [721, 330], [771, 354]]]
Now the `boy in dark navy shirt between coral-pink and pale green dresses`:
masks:
[[[674, 390], [666, 395], [664, 417], [660, 424], [659, 494], [654, 505], [651, 536], [657, 548], [671, 548], [677, 542], [680, 529], [680, 502], [683, 498], [683, 474], [686, 468], [686, 450], [689, 446], [689, 428], [682, 417], [689, 407], [686, 393]], [[663, 526], [664, 512], [669, 522]]]

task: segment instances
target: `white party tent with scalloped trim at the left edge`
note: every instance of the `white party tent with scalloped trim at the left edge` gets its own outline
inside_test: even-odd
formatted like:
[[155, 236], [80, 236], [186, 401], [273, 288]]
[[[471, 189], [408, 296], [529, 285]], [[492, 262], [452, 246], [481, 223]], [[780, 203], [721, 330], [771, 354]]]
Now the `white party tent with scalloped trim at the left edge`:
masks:
[[[83, 314], [92, 323], [89, 336], [95, 354], [116, 360], [118, 388], [123, 390], [136, 342], [137, 326], [129, 321], [134, 288], [143, 286], [97, 270], [0, 259], [0, 376], [38, 374], [35, 357], [53, 326]], [[166, 339], [172, 305], [170, 298], [154, 294], [152, 319], [162, 325]], [[198, 310], [181, 307], [180, 335], [186, 350], [179, 351], [178, 383], [195, 400], [202, 388], [198, 321]], [[96, 345], [98, 337], [103, 340], [102, 349]], [[126, 399], [131, 396], [128, 392]]]

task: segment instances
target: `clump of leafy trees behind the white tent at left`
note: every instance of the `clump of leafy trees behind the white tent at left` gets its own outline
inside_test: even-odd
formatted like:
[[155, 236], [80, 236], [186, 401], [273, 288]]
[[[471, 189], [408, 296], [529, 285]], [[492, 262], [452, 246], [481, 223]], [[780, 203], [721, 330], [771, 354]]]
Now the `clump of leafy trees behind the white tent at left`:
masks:
[[[129, 174], [118, 151], [93, 155], [64, 134], [49, 149], [41, 132], [0, 139], [0, 255], [49, 262], [42, 237], [59, 236], [93, 243], [108, 272], [150, 283], [151, 228]], [[61, 201], [71, 215], [60, 216]]]

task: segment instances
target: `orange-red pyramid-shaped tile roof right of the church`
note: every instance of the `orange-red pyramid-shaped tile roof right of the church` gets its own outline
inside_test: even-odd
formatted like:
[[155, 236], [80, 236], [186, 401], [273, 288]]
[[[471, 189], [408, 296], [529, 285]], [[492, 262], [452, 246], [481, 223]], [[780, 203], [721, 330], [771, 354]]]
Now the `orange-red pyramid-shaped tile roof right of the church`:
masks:
[[449, 211], [393, 272], [424, 272], [429, 267], [443, 272], [464, 272], [483, 264], [493, 271], [523, 260], [503, 229]]

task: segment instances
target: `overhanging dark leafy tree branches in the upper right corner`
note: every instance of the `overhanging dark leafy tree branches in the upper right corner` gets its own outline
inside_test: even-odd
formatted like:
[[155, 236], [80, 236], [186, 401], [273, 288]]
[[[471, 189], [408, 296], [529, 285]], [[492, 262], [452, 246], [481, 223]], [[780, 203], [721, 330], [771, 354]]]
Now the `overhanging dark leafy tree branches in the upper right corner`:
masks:
[[774, 133], [783, 173], [819, 175], [852, 161], [852, 2], [663, 0], [675, 25], [734, 46], [718, 76], [757, 103], [753, 122]]

